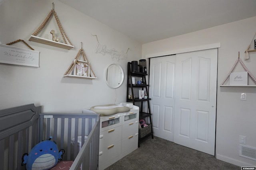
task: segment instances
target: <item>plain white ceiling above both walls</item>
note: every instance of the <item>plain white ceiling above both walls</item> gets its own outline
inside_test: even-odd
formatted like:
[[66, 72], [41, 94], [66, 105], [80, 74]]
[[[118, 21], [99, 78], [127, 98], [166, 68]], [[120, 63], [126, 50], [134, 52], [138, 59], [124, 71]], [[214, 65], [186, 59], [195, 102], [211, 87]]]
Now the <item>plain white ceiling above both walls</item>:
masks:
[[60, 0], [144, 44], [256, 16], [256, 0]]

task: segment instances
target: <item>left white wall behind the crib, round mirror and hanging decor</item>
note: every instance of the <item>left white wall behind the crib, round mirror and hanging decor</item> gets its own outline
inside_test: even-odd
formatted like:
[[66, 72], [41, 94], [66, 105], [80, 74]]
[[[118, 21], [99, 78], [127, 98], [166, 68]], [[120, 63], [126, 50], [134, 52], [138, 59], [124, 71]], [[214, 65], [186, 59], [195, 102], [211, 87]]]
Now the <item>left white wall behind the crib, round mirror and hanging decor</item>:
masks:
[[[66, 50], [28, 41], [52, 10], [52, 2], [73, 49]], [[38, 35], [51, 39], [50, 30], [61, 37], [53, 17]], [[57, 32], [58, 31], [58, 32]], [[112, 59], [110, 55], [96, 54], [97, 35], [107, 49], [126, 51], [128, 59]], [[82, 109], [102, 104], [126, 101], [127, 62], [141, 58], [142, 45], [126, 35], [66, 6], [58, 0], [6, 0], [0, 5], [0, 41], [2, 44], [17, 39], [26, 41], [40, 52], [40, 67], [0, 63], [0, 109], [34, 103], [44, 112], [82, 112]], [[97, 79], [63, 78], [80, 50], [80, 42]], [[28, 49], [22, 42], [12, 45]], [[107, 86], [104, 72], [116, 63], [124, 70], [124, 82], [117, 88]]]

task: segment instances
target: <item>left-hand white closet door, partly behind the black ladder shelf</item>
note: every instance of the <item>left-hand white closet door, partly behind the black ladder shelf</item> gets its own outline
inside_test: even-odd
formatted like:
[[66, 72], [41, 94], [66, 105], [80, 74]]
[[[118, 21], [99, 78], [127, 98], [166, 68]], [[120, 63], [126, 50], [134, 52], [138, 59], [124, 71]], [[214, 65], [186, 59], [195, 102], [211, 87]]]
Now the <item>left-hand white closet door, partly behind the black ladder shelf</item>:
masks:
[[173, 141], [175, 55], [150, 59], [149, 94], [154, 136]]

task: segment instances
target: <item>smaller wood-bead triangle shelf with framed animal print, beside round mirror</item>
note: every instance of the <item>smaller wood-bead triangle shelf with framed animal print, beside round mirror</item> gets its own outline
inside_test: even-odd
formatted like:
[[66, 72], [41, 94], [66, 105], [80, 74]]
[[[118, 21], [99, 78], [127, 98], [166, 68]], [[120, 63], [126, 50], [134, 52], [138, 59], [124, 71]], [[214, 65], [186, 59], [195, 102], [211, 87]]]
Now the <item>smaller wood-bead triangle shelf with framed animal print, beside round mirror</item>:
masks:
[[[79, 57], [82, 55], [84, 61], [78, 60]], [[91, 76], [93, 74], [93, 77]], [[84, 49], [82, 48], [81, 42], [81, 49], [78, 51], [75, 59], [70, 64], [68, 70], [65, 72], [63, 77], [72, 77], [72, 78], [86, 78], [86, 79], [96, 79], [96, 75], [92, 70], [92, 66], [89, 63]]]

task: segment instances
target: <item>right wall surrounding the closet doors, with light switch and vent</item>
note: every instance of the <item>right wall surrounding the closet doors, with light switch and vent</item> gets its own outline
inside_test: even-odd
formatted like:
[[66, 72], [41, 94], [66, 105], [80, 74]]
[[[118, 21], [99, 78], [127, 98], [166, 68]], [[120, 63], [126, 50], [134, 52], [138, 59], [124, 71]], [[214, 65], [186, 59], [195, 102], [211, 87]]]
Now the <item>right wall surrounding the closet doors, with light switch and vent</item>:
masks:
[[[246, 136], [246, 144], [256, 147], [256, 87], [220, 87], [236, 59], [238, 51], [245, 66], [256, 77], [256, 53], [250, 53], [250, 59], [244, 61], [244, 51], [252, 39], [256, 39], [256, 17], [240, 20], [210, 29], [167, 38], [142, 45], [142, 58], [220, 43], [218, 49], [218, 87], [216, 120], [216, 157], [238, 166], [256, 166], [256, 161], [239, 156], [239, 135]], [[254, 49], [254, 41], [251, 45]], [[244, 71], [241, 64], [235, 72]], [[256, 85], [248, 78], [250, 85]], [[227, 81], [226, 84], [229, 82]], [[241, 93], [247, 94], [247, 100], [240, 100]]]

